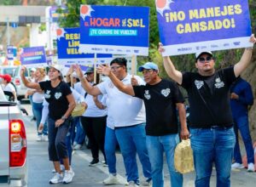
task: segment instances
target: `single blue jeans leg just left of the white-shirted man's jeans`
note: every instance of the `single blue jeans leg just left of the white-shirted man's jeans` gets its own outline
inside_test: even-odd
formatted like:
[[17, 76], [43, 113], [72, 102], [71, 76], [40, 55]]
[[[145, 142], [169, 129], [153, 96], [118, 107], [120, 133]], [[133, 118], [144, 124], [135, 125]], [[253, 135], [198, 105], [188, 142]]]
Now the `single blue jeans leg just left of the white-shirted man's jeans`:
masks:
[[108, 163], [108, 172], [116, 174], [116, 156], [115, 149], [117, 146], [117, 139], [114, 133], [114, 130], [106, 127], [105, 135], [105, 154]]

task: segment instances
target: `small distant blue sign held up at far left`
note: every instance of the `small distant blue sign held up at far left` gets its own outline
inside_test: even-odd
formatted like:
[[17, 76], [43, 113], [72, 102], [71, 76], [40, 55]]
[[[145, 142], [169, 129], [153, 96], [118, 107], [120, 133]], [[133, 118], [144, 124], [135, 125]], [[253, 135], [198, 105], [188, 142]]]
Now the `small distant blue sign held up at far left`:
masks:
[[47, 65], [43, 46], [22, 48], [20, 53], [21, 65]]

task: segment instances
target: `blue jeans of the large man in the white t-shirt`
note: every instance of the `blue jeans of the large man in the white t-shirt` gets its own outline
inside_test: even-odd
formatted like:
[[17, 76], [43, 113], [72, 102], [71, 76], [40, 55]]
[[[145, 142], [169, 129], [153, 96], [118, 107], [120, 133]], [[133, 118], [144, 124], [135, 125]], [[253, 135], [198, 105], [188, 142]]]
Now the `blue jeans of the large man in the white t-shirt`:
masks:
[[151, 178], [151, 165], [146, 146], [145, 123], [115, 129], [116, 138], [125, 162], [127, 181], [139, 184], [136, 153], [143, 165], [143, 175]]

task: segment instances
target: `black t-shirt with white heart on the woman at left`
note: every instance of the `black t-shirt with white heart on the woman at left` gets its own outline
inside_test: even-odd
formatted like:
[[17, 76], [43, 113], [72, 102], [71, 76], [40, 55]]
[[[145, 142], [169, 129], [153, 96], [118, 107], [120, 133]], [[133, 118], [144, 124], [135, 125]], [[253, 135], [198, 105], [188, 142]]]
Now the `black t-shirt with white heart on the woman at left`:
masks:
[[68, 109], [67, 95], [72, 94], [72, 91], [66, 82], [60, 82], [59, 85], [53, 88], [50, 81], [39, 82], [40, 87], [44, 90], [44, 98], [49, 103], [49, 117], [53, 120], [58, 120], [63, 116]]

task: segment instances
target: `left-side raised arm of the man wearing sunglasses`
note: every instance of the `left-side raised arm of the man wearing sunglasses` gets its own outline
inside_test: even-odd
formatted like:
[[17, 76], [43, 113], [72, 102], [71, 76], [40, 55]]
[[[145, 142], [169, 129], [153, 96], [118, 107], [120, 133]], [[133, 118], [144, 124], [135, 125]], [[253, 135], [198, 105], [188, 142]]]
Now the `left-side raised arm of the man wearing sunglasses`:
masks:
[[[159, 52], [162, 54], [165, 49], [163, 48], [163, 44], [159, 43]], [[183, 75], [181, 71], [177, 71], [175, 66], [172, 63], [172, 60], [168, 56], [163, 56], [164, 67], [166, 69], [166, 73], [169, 77], [171, 77], [175, 82], [181, 84], [183, 82]]]

